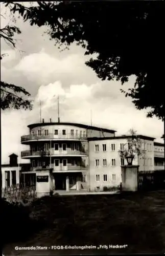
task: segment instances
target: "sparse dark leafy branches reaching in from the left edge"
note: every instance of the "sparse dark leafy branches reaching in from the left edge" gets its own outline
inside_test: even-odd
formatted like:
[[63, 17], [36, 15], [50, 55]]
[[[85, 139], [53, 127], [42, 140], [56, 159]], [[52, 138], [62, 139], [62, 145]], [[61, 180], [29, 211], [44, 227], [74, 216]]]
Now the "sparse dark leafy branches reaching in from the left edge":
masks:
[[[2, 15], [1, 15], [2, 16]], [[16, 47], [16, 41], [14, 40], [14, 34], [20, 34], [21, 31], [16, 26], [6, 25], [4, 28], [0, 29], [0, 37], [5, 40], [5, 42]], [[1, 54], [1, 60], [5, 57], [5, 54]], [[32, 109], [32, 102], [29, 99], [25, 99], [24, 96], [30, 96], [25, 89], [22, 87], [15, 86], [14, 84], [1, 81], [1, 109], [6, 110], [9, 108], [14, 109]]]

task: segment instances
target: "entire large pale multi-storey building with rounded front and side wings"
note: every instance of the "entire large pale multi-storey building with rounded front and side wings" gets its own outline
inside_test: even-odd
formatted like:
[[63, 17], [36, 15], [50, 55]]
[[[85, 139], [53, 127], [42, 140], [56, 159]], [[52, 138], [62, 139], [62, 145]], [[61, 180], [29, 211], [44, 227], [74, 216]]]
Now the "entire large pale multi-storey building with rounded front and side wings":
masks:
[[[53, 169], [56, 190], [92, 191], [120, 185], [121, 165], [126, 162], [120, 158], [119, 150], [130, 136], [116, 137], [114, 130], [68, 122], [43, 120], [28, 127], [29, 134], [21, 136], [21, 143], [29, 148], [21, 152], [21, 157], [30, 163], [18, 165], [17, 156], [12, 155], [15, 166], [11, 161], [2, 165], [3, 187], [35, 184], [36, 172], [43, 168]], [[139, 170], [164, 168], [164, 145], [151, 137], [138, 137], [143, 154], [136, 156], [133, 164], [138, 164]]]

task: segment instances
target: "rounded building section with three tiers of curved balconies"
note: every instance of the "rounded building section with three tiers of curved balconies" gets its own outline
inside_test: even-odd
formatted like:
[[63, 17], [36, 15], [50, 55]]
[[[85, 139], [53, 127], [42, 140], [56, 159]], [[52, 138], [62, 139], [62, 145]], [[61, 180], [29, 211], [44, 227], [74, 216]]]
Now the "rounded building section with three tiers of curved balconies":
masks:
[[[30, 133], [21, 137], [21, 143], [30, 148], [21, 152], [21, 157], [30, 159], [31, 168], [29, 172], [22, 172], [21, 182], [29, 173], [33, 177], [37, 169], [52, 168], [56, 190], [88, 189], [88, 138], [114, 137], [115, 134], [114, 130], [77, 123], [42, 122], [28, 127]], [[29, 179], [28, 182], [31, 183]]]

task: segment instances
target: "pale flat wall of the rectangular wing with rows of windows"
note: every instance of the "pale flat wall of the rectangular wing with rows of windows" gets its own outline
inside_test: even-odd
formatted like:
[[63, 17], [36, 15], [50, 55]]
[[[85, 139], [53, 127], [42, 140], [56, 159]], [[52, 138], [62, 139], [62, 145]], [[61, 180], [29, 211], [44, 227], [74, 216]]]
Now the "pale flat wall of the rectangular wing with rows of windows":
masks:
[[[154, 169], [154, 151], [153, 141], [142, 141], [142, 150], [146, 150], [145, 154], [135, 156], [133, 165], [139, 165], [140, 170]], [[113, 138], [107, 140], [89, 141], [89, 174], [90, 174], [90, 189], [95, 190], [96, 187], [103, 189], [104, 186], [117, 186], [121, 183], [121, 158], [119, 150], [120, 144], [127, 143], [127, 138]], [[103, 151], [103, 144], [106, 144], [106, 151]], [[115, 145], [115, 150], [112, 150], [111, 144]], [[95, 145], [99, 145], [99, 152], [95, 151]], [[144, 159], [143, 159], [144, 158]], [[100, 160], [100, 165], [96, 166], [96, 159]], [[103, 159], [106, 159], [107, 165], [103, 166]], [[112, 159], [115, 159], [115, 166], [112, 164]], [[150, 159], [150, 160], [149, 160]], [[124, 162], [126, 163], [126, 160]], [[96, 175], [100, 175], [100, 181], [97, 181]], [[104, 181], [104, 175], [107, 175], [107, 181]], [[113, 180], [115, 175], [115, 181]], [[112, 177], [113, 176], [113, 177]]]

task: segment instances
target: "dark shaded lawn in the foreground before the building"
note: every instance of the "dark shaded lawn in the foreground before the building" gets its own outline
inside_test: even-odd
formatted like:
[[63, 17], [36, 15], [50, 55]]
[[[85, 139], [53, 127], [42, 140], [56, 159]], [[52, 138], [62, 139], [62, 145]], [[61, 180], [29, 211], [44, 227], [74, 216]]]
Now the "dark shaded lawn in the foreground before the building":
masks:
[[[40, 229], [4, 246], [7, 255], [163, 253], [165, 192], [44, 197], [33, 202]], [[24, 232], [24, 231], [23, 231]], [[26, 234], [26, 230], [25, 230]], [[14, 232], [13, 232], [14, 236]], [[24, 239], [24, 240], [23, 240]], [[18, 251], [15, 246], [47, 246]], [[55, 245], [127, 245], [125, 248], [51, 250]]]

